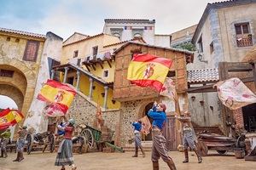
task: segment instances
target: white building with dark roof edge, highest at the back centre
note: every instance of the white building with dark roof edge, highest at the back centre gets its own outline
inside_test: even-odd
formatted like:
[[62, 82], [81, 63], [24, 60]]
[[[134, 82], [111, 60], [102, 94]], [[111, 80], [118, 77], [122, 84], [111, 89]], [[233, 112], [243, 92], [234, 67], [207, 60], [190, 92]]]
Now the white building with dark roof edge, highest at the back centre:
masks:
[[171, 36], [155, 34], [155, 20], [106, 19], [103, 32], [127, 41], [134, 37], [143, 37], [151, 45], [170, 47]]

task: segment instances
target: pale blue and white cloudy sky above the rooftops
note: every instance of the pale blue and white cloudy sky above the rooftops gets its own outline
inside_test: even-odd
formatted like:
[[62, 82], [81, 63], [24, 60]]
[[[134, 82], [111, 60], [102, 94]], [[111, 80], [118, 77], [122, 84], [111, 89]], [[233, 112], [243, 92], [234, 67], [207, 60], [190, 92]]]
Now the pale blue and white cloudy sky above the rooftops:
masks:
[[77, 31], [95, 35], [104, 19], [155, 20], [156, 34], [171, 34], [199, 22], [207, 3], [220, 0], [0, 0], [0, 27], [64, 40]]

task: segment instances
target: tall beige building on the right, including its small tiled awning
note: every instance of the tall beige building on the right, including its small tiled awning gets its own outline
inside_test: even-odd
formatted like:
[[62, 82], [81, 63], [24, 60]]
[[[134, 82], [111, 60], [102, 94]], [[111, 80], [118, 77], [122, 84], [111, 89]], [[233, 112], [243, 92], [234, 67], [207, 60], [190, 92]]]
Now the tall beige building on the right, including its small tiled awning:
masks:
[[256, 42], [255, 20], [255, 0], [207, 4], [192, 38], [197, 48], [194, 63], [188, 65], [188, 82], [193, 87], [189, 89], [189, 110], [197, 125], [218, 126], [227, 134], [225, 129], [229, 118], [222, 113], [223, 106], [212, 83], [219, 81], [220, 62], [241, 62], [253, 48]]

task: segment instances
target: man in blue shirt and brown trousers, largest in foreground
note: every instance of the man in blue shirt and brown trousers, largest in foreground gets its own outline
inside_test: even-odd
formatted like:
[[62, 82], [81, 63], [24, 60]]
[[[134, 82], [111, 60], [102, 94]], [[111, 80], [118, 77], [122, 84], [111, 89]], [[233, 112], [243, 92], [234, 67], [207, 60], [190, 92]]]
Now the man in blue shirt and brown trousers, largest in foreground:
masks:
[[163, 136], [162, 130], [164, 123], [166, 122], [166, 105], [158, 104], [154, 102], [153, 109], [148, 111], [148, 116], [153, 119], [152, 123], [152, 155], [151, 160], [153, 162], [153, 170], [159, 170], [160, 157], [163, 161], [166, 161], [168, 167], [171, 170], [176, 170], [175, 164], [172, 158], [168, 156], [168, 150], [166, 149], [166, 138]]

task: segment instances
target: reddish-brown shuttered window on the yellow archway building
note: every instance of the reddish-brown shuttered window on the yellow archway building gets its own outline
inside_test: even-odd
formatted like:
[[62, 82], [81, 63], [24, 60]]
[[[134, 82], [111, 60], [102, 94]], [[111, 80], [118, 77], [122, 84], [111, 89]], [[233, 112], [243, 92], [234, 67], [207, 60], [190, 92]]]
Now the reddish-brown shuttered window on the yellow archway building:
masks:
[[27, 41], [23, 60], [36, 61], [38, 57], [39, 43], [37, 41]]

